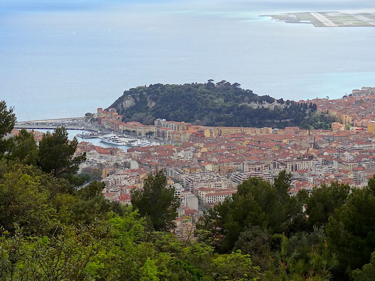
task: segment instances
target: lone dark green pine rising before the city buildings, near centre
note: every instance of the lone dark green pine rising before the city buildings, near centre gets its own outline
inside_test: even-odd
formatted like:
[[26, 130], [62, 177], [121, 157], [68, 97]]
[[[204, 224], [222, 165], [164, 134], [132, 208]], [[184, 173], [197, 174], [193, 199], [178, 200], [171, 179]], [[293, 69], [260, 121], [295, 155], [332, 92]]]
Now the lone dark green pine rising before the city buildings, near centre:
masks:
[[167, 186], [166, 177], [160, 170], [143, 182], [143, 190], [132, 193], [132, 205], [145, 216], [155, 230], [168, 230], [174, 226], [177, 208], [181, 200], [175, 196], [175, 188]]

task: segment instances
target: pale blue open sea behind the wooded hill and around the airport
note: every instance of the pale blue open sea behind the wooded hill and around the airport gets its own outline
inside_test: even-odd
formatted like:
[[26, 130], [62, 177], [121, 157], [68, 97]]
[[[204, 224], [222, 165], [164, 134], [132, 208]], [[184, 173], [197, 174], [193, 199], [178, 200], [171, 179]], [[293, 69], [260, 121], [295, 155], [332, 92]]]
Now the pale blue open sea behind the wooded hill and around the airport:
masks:
[[158, 82], [225, 79], [296, 100], [375, 87], [375, 28], [259, 17], [319, 10], [375, 2], [0, 0], [0, 99], [36, 120], [93, 112]]

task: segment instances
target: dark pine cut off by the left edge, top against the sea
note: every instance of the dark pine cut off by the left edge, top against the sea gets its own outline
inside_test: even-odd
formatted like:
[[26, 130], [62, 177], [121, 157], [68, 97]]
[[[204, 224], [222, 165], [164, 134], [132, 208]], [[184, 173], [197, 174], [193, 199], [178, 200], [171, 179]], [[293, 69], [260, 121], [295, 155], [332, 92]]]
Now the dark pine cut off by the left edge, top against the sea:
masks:
[[16, 122], [16, 115], [13, 113], [13, 108], [6, 107], [4, 100], [0, 101], [0, 154], [3, 154], [9, 148], [11, 141], [3, 139], [3, 136], [9, 134]]

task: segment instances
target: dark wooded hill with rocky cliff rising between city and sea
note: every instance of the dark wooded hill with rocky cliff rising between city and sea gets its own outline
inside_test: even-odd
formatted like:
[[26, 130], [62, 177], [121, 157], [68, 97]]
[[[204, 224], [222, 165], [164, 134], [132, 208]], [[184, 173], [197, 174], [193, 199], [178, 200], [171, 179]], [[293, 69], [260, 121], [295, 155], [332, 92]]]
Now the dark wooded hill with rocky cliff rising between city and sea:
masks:
[[[317, 106], [270, 96], [258, 96], [225, 80], [214, 84], [154, 84], [124, 91], [110, 107], [124, 121], [152, 124], [155, 118], [204, 126], [278, 127], [299, 126]], [[306, 128], [308, 129], [308, 128]]]

